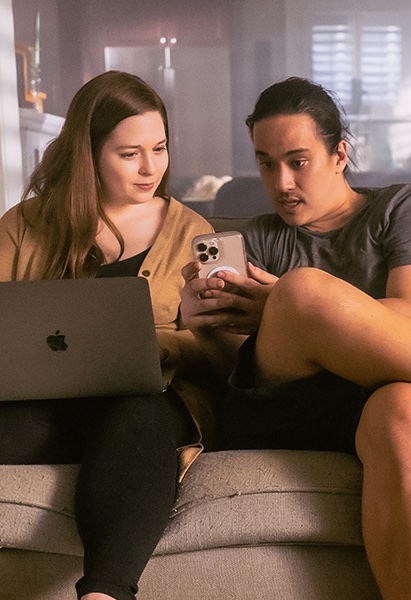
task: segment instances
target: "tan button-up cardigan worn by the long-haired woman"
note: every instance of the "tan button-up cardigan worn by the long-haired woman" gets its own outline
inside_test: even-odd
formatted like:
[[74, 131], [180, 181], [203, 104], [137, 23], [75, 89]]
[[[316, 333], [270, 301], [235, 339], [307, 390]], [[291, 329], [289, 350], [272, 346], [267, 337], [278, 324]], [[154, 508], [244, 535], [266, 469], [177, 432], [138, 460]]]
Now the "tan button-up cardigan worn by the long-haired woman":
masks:
[[[39, 200], [24, 202], [30, 218], [38, 210]], [[39, 279], [43, 269], [45, 240], [23, 220], [18, 206], [0, 219], [0, 281]], [[180, 290], [184, 285], [181, 269], [192, 260], [191, 239], [211, 231], [211, 225], [203, 217], [171, 198], [164, 226], [139, 271], [139, 276], [145, 277], [150, 285], [163, 368], [173, 379], [172, 386], [198, 429], [193, 444], [181, 449], [181, 477], [203, 448], [200, 431], [212, 439], [213, 419], [207, 392], [195, 375], [187, 377], [187, 372], [196, 373], [196, 364], [200, 364], [198, 347], [191, 332], [181, 328], [179, 314]], [[185, 362], [183, 376], [179, 365]]]

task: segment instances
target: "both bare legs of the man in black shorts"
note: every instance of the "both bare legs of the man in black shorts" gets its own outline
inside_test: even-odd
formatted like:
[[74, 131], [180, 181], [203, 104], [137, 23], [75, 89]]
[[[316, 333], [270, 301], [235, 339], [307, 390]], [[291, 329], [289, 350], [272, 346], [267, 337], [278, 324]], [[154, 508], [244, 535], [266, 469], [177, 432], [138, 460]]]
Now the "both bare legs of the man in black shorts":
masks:
[[273, 287], [256, 342], [258, 383], [327, 369], [376, 390], [360, 420], [357, 451], [364, 541], [384, 600], [411, 600], [410, 340], [409, 316], [304, 268]]

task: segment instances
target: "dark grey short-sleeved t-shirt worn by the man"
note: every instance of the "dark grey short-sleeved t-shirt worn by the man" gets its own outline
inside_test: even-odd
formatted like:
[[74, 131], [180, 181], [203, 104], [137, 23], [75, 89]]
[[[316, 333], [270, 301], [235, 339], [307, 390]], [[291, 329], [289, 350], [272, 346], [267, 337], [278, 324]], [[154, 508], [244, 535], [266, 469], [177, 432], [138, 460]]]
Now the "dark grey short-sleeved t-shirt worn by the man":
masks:
[[390, 269], [411, 264], [411, 185], [356, 191], [367, 195], [365, 206], [334, 231], [291, 227], [277, 214], [254, 217], [242, 230], [249, 260], [278, 277], [317, 267], [385, 297]]

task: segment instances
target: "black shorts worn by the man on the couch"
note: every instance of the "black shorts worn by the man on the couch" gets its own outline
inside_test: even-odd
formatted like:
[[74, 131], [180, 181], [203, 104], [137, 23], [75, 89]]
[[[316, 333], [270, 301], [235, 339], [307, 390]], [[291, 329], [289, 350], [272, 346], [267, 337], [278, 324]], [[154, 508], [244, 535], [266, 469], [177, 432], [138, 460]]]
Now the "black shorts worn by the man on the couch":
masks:
[[274, 388], [252, 385], [255, 337], [239, 351], [219, 407], [223, 449], [355, 451], [355, 432], [372, 390], [329, 371]]

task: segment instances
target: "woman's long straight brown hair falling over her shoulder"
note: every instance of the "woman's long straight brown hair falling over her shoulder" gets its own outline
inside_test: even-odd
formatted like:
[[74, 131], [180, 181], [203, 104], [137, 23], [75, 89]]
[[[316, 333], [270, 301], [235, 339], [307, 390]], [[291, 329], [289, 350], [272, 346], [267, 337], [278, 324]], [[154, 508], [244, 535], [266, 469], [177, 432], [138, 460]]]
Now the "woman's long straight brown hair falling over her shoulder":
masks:
[[[24, 190], [20, 210], [28, 226], [45, 240], [43, 279], [93, 277], [104, 257], [96, 244], [99, 219], [124, 240], [104, 213], [97, 169], [101, 148], [120, 121], [156, 111], [161, 114], [168, 140], [168, 120], [158, 94], [142, 79], [109, 71], [86, 83], [74, 96], [60, 135], [46, 148]], [[156, 190], [167, 196], [168, 172]], [[35, 217], [24, 200], [41, 200]]]

